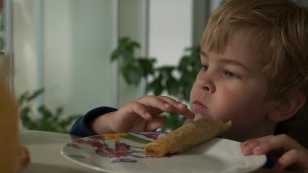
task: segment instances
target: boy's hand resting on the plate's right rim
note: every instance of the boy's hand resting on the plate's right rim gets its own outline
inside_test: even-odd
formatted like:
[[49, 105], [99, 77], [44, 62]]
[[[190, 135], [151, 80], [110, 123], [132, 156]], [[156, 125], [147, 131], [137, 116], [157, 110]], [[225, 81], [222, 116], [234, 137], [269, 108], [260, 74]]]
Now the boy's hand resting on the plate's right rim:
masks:
[[308, 150], [285, 134], [251, 139], [243, 142], [241, 148], [244, 155], [272, 156], [276, 160], [275, 172], [281, 172], [290, 165], [299, 172], [308, 172]]

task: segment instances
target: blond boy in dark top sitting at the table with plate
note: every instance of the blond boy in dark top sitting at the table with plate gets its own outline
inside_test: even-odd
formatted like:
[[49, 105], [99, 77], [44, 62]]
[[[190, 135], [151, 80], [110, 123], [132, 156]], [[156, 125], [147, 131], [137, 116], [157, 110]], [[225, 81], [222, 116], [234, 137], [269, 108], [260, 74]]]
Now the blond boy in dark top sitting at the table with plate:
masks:
[[295, 114], [304, 116], [300, 110], [307, 107], [307, 45], [307, 9], [288, 0], [226, 1], [210, 18], [201, 41], [202, 68], [190, 93], [192, 111], [166, 96], [145, 96], [119, 110], [90, 111], [71, 134], [152, 132], [165, 125], [166, 119], [156, 116], [163, 112], [175, 111], [187, 123], [209, 116], [232, 120], [232, 128], [222, 136], [243, 142], [244, 155], [282, 149], [274, 170], [295, 163], [308, 172], [307, 149], [277, 135], [278, 124]]

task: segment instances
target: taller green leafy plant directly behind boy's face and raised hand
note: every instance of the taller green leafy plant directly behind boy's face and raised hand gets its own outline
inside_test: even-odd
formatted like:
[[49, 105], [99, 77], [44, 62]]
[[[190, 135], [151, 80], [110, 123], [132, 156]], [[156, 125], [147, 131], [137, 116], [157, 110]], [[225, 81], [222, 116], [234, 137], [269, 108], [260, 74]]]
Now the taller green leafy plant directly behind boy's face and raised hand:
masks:
[[[161, 95], [163, 92], [176, 97], [179, 101], [189, 101], [191, 87], [200, 70], [200, 47], [185, 49], [185, 54], [175, 66], [155, 67], [157, 60], [151, 57], [136, 57], [136, 49], [140, 49], [138, 42], [123, 37], [119, 46], [111, 54], [111, 61], [120, 61], [120, 72], [129, 85], [137, 86], [141, 79], [145, 79], [146, 93]], [[179, 74], [176, 77], [175, 73]], [[166, 115], [164, 115], [166, 116]], [[181, 126], [185, 118], [172, 112], [167, 116], [167, 125], [163, 127], [174, 130]]]

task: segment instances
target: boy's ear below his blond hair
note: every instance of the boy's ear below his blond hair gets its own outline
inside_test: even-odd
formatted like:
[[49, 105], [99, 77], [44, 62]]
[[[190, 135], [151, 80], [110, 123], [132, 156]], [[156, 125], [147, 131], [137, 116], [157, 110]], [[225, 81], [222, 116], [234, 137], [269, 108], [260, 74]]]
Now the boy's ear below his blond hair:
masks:
[[294, 116], [305, 104], [306, 98], [303, 93], [289, 96], [278, 101], [276, 107], [267, 115], [272, 122], [281, 122]]

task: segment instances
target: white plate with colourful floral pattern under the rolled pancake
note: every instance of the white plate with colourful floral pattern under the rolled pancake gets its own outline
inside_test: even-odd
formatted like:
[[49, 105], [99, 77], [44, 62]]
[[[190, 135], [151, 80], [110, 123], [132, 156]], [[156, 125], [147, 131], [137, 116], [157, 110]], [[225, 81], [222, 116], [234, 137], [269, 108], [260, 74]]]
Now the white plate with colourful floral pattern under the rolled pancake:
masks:
[[244, 156], [240, 143], [213, 138], [181, 153], [161, 158], [145, 155], [145, 144], [163, 133], [98, 135], [74, 140], [61, 149], [67, 159], [102, 172], [250, 172], [265, 155]]

